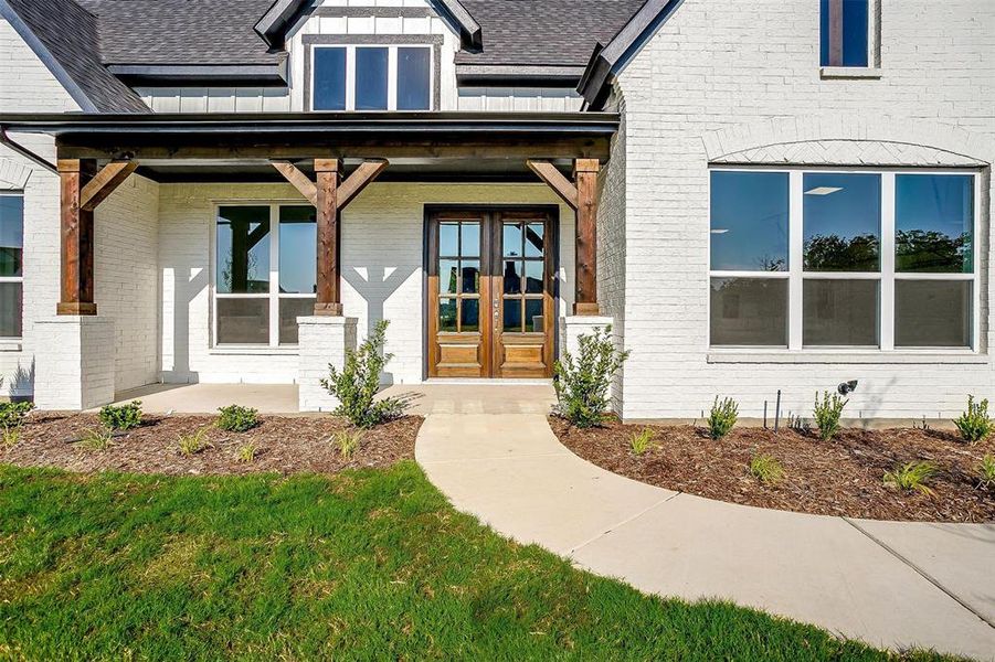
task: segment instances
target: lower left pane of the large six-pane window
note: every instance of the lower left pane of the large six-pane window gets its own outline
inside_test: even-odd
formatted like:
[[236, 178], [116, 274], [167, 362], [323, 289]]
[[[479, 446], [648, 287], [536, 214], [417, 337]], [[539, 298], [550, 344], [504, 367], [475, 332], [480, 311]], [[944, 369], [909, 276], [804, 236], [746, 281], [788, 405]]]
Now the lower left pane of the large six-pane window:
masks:
[[712, 345], [787, 345], [786, 278], [712, 278]]

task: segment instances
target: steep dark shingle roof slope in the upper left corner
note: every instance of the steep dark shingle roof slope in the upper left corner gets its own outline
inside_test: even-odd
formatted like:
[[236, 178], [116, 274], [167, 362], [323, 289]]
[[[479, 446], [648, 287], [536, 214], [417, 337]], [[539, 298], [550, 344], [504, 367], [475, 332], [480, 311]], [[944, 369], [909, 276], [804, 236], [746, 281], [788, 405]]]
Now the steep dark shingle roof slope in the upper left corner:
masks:
[[[148, 107], [100, 62], [95, 17], [73, 0], [0, 0], [3, 17], [30, 31], [32, 50], [86, 111], [141, 113]], [[13, 10], [11, 12], [10, 10]]]

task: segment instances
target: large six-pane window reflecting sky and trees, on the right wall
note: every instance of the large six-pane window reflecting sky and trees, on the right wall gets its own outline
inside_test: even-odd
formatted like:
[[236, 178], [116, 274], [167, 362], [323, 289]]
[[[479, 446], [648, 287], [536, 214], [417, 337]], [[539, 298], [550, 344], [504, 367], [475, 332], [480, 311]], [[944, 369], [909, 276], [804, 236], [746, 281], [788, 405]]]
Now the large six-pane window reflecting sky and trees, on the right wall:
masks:
[[711, 345], [974, 349], [976, 179], [713, 170]]

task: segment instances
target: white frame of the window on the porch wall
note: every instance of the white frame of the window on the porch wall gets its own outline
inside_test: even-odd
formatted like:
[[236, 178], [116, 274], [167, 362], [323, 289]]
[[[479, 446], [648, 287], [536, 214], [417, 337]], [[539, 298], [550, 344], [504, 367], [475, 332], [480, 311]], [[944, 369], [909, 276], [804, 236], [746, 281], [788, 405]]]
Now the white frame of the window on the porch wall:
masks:
[[[269, 291], [265, 293], [236, 293], [218, 291], [218, 218], [222, 207], [258, 206], [269, 207]], [[317, 295], [282, 293], [279, 291], [279, 210], [280, 207], [309, 207], [299, 200], [237, 200], [232, 202], [215, 201], [214, 215], [211, 221], [211, 348], [218, 350], [296, 350], [296, 343], [279, 342], [279, 302], [280, 299], [316, 299]], [[318, 256], [315, 257], [317, 265]], [[231, 343], [219, 342], [218, 339], [218, 301], [220, 299], [267, 299], [269, 310], [268, 342], [266, 343]]]

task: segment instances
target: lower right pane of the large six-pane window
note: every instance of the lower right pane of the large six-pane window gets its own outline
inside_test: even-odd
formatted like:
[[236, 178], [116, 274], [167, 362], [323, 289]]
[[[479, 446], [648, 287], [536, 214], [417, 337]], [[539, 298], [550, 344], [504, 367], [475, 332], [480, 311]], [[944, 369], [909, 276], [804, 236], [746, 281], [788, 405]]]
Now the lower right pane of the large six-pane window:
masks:
[[970, 280], [896, 280], [896, 346], [970, 348], [972, 289]]

